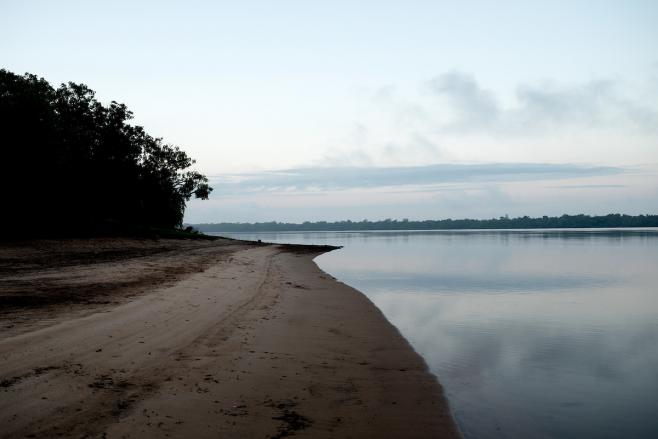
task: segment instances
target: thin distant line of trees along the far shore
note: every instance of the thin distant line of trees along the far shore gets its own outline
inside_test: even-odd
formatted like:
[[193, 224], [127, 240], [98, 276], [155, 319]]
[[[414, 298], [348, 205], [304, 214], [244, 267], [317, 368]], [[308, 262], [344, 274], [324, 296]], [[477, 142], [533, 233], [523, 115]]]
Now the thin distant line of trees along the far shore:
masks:
[[562, 229], [602, 227], [658, 227], [658, 215], [603, 216], [562, 215], [530, 218], [528, 216], [492, 219], [443, 219], [411, 221], [408, 219], [382, 221], [336, 221], [295, 223], [212, 223], [194, 224], [202, 232], [292, 232], [292, 231], [342, 231], [342, 230], [445, 230], [445, 229]]

